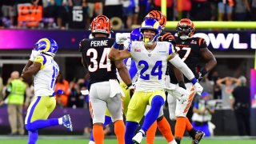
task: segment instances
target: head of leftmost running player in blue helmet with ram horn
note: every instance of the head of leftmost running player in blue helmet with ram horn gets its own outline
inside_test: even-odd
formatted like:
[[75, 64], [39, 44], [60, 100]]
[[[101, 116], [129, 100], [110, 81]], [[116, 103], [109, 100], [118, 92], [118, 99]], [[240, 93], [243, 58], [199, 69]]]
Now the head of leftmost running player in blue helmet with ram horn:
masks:
[[34, 44], [34, 50], [54, 57], [58, 50], [58, 44], [53, 38], [41, 38]]

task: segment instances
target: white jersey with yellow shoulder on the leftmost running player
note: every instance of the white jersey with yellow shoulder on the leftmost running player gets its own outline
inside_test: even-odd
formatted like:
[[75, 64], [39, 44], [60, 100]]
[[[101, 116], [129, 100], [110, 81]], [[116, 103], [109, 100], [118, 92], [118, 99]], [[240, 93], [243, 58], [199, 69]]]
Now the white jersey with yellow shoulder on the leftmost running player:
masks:
[[34, 96], [53, 95], [59, 71], [57, 62], [45, 54], [38, 55], [34, 62], [41, 63], [41, 69], [34, 75]]

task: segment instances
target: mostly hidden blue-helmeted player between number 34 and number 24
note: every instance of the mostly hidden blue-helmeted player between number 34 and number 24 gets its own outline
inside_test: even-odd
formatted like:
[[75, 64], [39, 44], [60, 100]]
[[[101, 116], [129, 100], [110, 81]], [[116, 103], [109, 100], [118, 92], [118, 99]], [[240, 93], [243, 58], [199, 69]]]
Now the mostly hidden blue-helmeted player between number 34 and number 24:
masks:
[[[126, 42], [124, 42], [123, 48], [126, 49], [131, 41], [139, 41], [139, 39], [140, 39], [140, 31], [139, 31], [139, 28], [136, 28], [131, 31], [130, 39], [127, 39]], [[137, 74], [138, 70], [136, 68], [134, 60], [132, 58], [126, 58], [124, 60], [124, 63], [126, 64], [126, 67], [129, 71], [130, 78], [132, 79], [132, 82], [135, 82], [137, 79], [136, 74]], [[119, 74], [118, 74], [118, 80], [120, 81], [120, 86], [122, 88], [122, 91], [125, 94], [125, 97], [122, 97], [122, 101], [123, 101], [123, 113], [126, 115], [127, 107], [130, 102], [130, 97], [132, 96], [132, 94], [134, 92], [134, 90], [133, 90], [134, 86], [131, 85], [130, 88], [128, 86], [126, 86], [126, 84], [124, 82], [122, 82], [122, 78], [120, 78]], [[110, 124], [111, 121], [112, 121], [112, 119], [110, 117], [110, 112], [109, 112], [109, 110], [106, 109], [105, 122], [104, 122], [103, 127]], [[90, 134], [89, 144], [94, 144], [93, 131]]]

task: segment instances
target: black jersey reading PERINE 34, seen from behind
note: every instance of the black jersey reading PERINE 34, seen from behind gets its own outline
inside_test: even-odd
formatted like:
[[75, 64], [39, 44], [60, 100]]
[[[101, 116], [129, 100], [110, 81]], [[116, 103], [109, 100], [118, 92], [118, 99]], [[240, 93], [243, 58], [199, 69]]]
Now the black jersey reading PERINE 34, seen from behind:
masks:
[[118, 79], [114, 61], [108, 59], [114, 38], [83, 39], [79, 44], [82, 57], [90, 74], [90, 84]]

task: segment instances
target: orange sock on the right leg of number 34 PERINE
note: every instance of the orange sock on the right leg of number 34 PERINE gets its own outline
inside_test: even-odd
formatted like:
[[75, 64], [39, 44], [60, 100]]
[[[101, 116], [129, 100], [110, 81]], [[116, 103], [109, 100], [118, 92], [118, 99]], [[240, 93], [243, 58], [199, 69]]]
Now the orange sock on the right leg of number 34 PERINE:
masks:
[[118, 144], [125, 144], [126, 127], [122, 120], [114, 122], [114, 134], [117, 136]]

